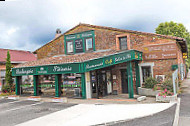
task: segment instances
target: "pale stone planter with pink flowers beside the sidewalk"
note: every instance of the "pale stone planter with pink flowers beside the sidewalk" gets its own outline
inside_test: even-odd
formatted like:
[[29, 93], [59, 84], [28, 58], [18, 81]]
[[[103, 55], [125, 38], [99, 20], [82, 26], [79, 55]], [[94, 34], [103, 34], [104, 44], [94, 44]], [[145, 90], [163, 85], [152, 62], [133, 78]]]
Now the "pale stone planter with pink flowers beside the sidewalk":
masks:
[[156, 95], [156, 101], [157, 102], [173, 102], [177, 100], [177, 94], [172, 96], [159, 96]]

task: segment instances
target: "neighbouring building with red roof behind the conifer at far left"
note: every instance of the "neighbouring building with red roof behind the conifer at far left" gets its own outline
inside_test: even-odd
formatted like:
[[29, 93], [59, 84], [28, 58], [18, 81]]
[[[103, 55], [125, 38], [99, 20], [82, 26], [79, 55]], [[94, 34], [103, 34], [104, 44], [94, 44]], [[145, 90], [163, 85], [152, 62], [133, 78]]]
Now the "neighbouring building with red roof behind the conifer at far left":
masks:
[[5, 64], [6, 64], [8, 50], [11, 56], [12, 67], [15, 67], [18, 64], [25, 63], [28, 61], [37, 60], [35, 54], [29, 51], [0, 49], [0, 91], [1, 91], [2, 85], [5, 84], [5, 73], [6, 73]]

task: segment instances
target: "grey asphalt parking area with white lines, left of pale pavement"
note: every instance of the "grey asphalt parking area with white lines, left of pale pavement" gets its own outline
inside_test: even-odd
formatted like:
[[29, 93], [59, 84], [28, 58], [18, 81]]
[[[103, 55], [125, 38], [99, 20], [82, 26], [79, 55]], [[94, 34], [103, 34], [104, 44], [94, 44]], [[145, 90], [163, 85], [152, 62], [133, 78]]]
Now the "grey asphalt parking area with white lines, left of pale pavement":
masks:
[[0, 126], [14, 126], [73, 105], [0, 99]]

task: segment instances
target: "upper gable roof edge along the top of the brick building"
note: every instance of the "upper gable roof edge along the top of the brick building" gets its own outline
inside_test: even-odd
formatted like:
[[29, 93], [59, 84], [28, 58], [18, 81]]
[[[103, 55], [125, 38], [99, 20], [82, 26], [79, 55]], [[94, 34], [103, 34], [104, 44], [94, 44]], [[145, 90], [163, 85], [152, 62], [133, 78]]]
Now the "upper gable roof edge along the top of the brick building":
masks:
[[[127, 32], [127, 33], [134, 33], [134, 34], [142, 34], [142, 35], [151, 35], [151, 36], [157, 36], [157, 37], [162, 37], [162, 38], [166, 38], [166, 39], [174, 39], [177, 41], [183, 41], [185, 45], [187, 45], [186, 41], [184, 38], [180, 38], [180, 37], [176, 37], [176, 36], [169, 36], [169, 35], [161, 35], [161, 34], [156, 34], [156, 33], [148, 33], [148, 32], [141, 32], [141, 31], [133, 31], [133, 30], [125, 30], [125, 29], [118, 29], [118, 28], [112, 28], [112, 27], [106, 27], [106, 26], [97, 26], [97, 25], [91, 25], [91, 24], [85, 24], [85, 23], [79, 23], [78, 25], [76, 25], [75, 27], [69, 29], [68, 31], [66, 31], [65, 33], [63, 33], [62, 35], [60, 35], [59, 37], [68, 34], [70, 31], [74, 30], [75, 28], [79, 27], [79, 26], [86, 26], [86, 27], [91, 27], [91, 28], [99, 28], [99, 29], [107, 29], [107, 30], [112, 30], [112, 31], [120, 31], [120, 32]], [[58, 39], [59, 37], [49, 41], [48, 43], [46, 43], [45, 45], [41, 46], [40, 48], [38, 48], [37, 50], [34, 51], [34, 53], [36, 53], [36, 51], [38, 51], [39, 49], [41, 49], [42, 47], [50, 44], [51, 42], [53, 42], [54, 40]], [[184, 45], [182, 44], [182, 45]], [[186, 47], [184, 47], [184, 49], [187, 50]]]

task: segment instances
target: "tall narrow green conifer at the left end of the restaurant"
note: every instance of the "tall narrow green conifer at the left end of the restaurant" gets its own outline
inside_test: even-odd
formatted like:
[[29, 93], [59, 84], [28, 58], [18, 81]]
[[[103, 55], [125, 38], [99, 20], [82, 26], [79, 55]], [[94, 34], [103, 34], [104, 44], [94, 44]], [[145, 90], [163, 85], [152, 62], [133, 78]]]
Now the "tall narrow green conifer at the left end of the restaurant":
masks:
[[7, 51], [7, 58], [6, 58], [6, 74], [5, 74], [5, 81], [6, 84], [4, 88], [7, 89], [7, 92], [11, 92], [13, 90], [13, 79], [12, 79], [12, 72], [11, 72], [12, 64], [11, 64], [11, 57], [9, 51]]

